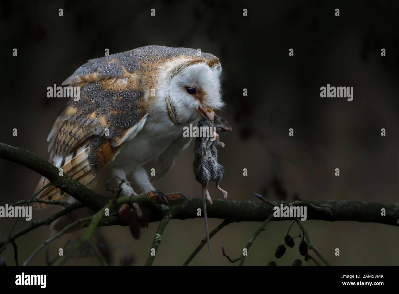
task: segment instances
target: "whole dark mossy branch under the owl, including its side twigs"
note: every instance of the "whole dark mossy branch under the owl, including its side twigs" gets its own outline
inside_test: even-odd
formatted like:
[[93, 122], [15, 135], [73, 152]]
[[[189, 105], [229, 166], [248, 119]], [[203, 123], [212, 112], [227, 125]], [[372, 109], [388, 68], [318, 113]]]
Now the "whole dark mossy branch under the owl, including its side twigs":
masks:
[[[0, 158], [19, 163], [25, 167], [28, 167], [29, 169], [32, 169], [33, 171], [36, 171], [43, 177], [49, 179], [53, 186], [65, 191], [81, 202], [72, 205], [60, 201], [48, 203], [62, 205], [65, 207], [65, 209], [48, 219], [32, 222], [31, 226], [28, 226], [10, 236], [7, 239], [7, 242], [0, 242], [0, 247], [6, 245], [4, 243], [13, 242], [19, 236], [26, 234], [38, 226], [50, 224], [55, 219], [58, 219], [59, 217], [81, 207], [89, 207], [93, 211], [98, 212], [94, 215], [94, 217], [91, 217], [92, 222], [84, 222], [81, 224], [82, 226], [89, 226], [83, 238], [83, 240], [86, 241], [90, 241], [92, 233], [97, 226], [121, 225], [122, 223], [120, 222], [118, 214], [113, 213], [110, 216], [105, 216], [104, 210], [106, 208], [110, 208], [110, 210], [114, 209], [118, 205], [122, 205], [124, 203], [140, 203], [142, 205], [143, 213], [148, 216], [149, 222], [161, 221], [157, 230], [157, 233], [161, 236], [163, 234], [164, 228], [171, 219], [184, 220], [201, 217], [197, 215], [197, 209], [202, 207], [202, 200], [199, 198], [190, 198], [188, 199], [186, 205], [170, 207], [166, 212], [161, 205], [155, 204], [152, 199], [146, 195], [120, 197], [117, 199], [117, 201], [110, 202], [108, 198], [97, 195], [75, 179], [69, 177], [66, 173], [64, 173], [63, 176], [59, 176], [59, 170], [57, 167], [24, 148], [17, 148], [0, 143]], [[20, 201], [14, 205], [26, 203], [26, 201]], [[375, 222], [399, 226], [399, 203], [384, 204], [378, 202], [367, 203], [365, 201], [270, 201], [269, 204], [266, 204], [259, 201], [227, 201], [218, 199], [213, 201], [213, 205], [207, 205], [207, 215], [209, 218], [223, 219], [223, 224], [241, 221], [265, 222], [266, 219], [267, 221], [260, 227], [260, 229], [262, 229], [269, 221], [287, 221], [294, 219], [272, 217], [274, 212], [273, 208], [275, 206], [280, 206], [280, 204], [283, 206], [303, 205], [308, 207], [308, 220]], [[385, 209], [385, 215], [381, 215], [382, 209]], [[223, 224], [220, 228], [224, 226]], [[48, 244], [47, 241], [43, 243], [40, 248], [38, 248], [38, 251]], [[159, 236], [157, 239], [156, 235], [154, 238], [155, 246], [153, 242], [152, 248], [158, 248], [158, 241]], [[203, 245], [202, 242], [200, 246], [201, 245]], [[311, 249], [313, 249], [315, 252], [317, 251], [315, 248]], [[31, 258], [37, 252], [34, 252]], [[30, 259], [28, 258], [27, 262], [29, 262], [29, 260]], [[150, 255], [146, 265], [151, 265], [153, 260], [154, 256]], [[244, 259], [241, 260], [241, 264], [243, 263], [243, 260]]]

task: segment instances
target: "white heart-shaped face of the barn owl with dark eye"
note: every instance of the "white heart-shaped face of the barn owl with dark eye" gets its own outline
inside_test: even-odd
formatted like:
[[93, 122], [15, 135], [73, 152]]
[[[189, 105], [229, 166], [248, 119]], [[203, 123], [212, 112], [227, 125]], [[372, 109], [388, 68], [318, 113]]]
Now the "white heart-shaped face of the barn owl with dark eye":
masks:
[[210, 68], [206, 63], [196, 63], [178, 69], [169, 84], [169, 97], [181, 123], [207, 115], [213, 120], [213, 109], [223, 106], [220, 95], [221, 65]]

